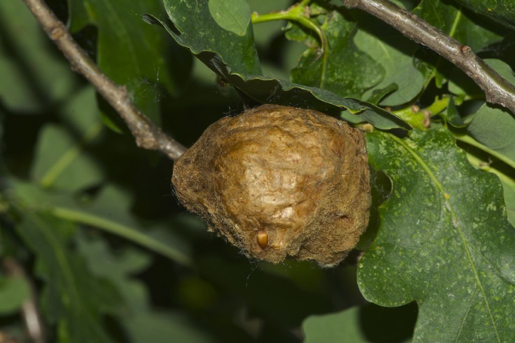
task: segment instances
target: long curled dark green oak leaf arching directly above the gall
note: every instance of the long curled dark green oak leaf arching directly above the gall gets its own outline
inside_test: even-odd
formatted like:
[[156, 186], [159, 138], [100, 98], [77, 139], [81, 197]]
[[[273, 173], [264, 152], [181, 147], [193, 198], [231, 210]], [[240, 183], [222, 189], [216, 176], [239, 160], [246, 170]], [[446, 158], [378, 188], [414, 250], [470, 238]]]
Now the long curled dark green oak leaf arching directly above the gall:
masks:
[[370, 109], [377, 116], [389, 117], [390, 122], [396, 123], [397, 127], [410, 128], [400, 118], [372, 104], [353, 98], [342, 98], [325, 89], [261, 75], [251, 29], [248, 29], [244, 37], [221, 29], [209, 14], [206, 1], [199, 0], [186, 5], [183, 2], [164, 0], [170, 20], [180, 34], [158, 18], [149, 18], [163, 26], [179, 44], [187, 47], [215, 73], [252, 100], [259, 103], [307, 106], [326, 113], [339, 113], [343, 109], [358, 113]]

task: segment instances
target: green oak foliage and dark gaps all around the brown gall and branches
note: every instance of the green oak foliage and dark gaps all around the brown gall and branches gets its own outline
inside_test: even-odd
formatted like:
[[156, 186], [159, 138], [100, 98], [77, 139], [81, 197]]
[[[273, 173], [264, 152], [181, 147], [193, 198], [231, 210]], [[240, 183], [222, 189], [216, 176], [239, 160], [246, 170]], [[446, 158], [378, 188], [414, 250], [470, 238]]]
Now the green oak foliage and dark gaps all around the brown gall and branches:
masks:
[[[396, 3], [515, 84], [512, 12]], [[515, 340], [515, 118], [450, 63], [337, 1], [49, 4], [184, 145], [264, 102], [374, 130], [359, 264], [250, 261], [177, 204], [171, 161], [134, 146], [23, 3], [0, 2], [0, 257], [26, 270], [48, 341]], [[29, 341], [30, 285], [7, 271], [0, 330]]]

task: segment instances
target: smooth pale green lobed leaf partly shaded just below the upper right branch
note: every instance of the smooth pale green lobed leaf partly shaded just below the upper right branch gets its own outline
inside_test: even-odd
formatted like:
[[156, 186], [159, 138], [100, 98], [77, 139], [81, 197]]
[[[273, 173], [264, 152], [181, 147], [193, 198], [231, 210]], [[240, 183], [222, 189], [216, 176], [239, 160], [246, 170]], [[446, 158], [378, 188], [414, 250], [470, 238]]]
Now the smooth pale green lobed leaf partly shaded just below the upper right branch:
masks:
[[354, 42], [359, 49], [366, 51], [383, 66], [385, 76], [382, 82], [366, 92], [364, 97], [368, 98], [376, 89], [394, 83], [398, 86], [397, 91], [383, 98], [381, 105], [396, 106], [413, 100], [424, 85], [422, 74], [413, 64], [413, 55], [418, 45], [386, 24], [377, 21], [367, 22], [367, 19], [368, 17], [364, 17], [360, 21], [364, 29], [357, 31]]

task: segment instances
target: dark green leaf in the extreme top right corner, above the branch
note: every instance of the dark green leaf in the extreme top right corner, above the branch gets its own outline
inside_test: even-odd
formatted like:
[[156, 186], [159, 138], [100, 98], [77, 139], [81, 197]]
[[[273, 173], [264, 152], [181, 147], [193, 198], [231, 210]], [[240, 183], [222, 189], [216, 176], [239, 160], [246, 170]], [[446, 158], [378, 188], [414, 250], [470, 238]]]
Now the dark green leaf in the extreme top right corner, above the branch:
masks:
[[513, 0], [456, 0], [475, 13], [489, 17], [493, 22], [515, 29], [515, 2]]

